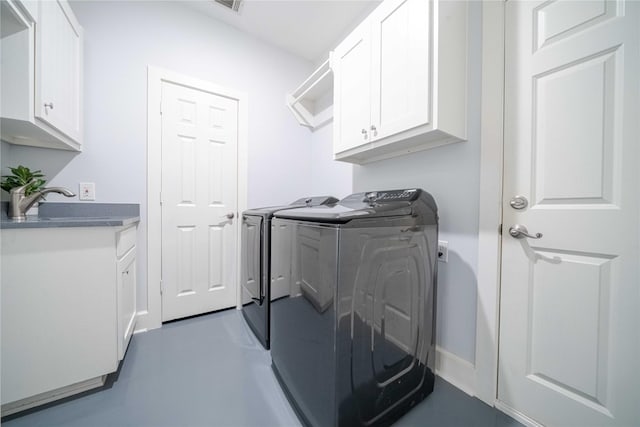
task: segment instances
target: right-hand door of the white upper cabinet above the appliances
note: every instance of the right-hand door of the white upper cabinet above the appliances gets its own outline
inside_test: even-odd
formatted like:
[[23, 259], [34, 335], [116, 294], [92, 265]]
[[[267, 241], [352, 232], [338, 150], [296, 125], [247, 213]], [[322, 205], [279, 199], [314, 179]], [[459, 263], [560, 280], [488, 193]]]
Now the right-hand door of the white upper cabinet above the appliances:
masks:
[[387, 0], [371, 15], [373, 138], [429, 122], [429, 2]]

